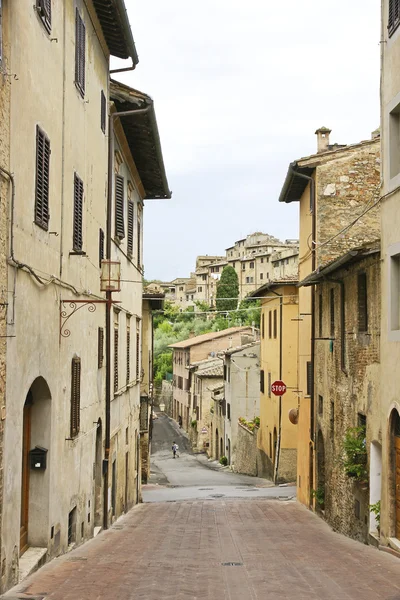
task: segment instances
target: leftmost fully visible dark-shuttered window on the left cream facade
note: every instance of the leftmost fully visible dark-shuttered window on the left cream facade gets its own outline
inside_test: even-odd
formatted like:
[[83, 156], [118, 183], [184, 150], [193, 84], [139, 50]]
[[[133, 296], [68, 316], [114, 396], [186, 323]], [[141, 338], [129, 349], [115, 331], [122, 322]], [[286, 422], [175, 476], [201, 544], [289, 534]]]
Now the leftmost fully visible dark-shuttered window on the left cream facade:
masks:
[[35, 223], [47, 231], [49, 227], [50, 140], [36, 127]]

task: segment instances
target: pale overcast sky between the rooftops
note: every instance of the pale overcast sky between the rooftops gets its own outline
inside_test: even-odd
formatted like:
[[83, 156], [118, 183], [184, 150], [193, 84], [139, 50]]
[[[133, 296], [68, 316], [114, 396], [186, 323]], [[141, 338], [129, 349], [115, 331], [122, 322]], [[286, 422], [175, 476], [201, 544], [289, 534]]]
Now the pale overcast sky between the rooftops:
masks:
[[340, 144], [379, 126], [379, 0], [125, 3], [139, 64], [116, 78], [153, 98], [172, 190], [145, 202], [146, 279], [255, 231], [298, 238], [289, 163], [321, 126]]

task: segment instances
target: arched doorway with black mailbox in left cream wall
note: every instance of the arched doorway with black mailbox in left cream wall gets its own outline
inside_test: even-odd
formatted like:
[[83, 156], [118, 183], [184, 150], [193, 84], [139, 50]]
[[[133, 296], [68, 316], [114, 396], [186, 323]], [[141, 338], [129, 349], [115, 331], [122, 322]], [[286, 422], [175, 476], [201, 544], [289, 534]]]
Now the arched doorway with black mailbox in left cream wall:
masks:
[[[20, 554], [48, 539], [51, 394], [43, 377], [35, 379], [23, 406]], [[30, 450], [44, 449], [46, 468], [31, 468]], [[39, 464], [39, 462], [37, 463]]]

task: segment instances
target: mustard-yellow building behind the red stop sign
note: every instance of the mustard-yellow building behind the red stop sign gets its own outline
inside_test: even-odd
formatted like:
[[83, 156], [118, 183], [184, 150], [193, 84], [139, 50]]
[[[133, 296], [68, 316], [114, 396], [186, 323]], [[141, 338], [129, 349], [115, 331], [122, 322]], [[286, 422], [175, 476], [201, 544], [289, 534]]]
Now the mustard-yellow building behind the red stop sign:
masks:
[[[258, 472], [279, 482], [296, 481], [297, 471], [297, 425], [289, 420], [289, 411], [298, 409], [296, 284], [297, 279], [272, 281], [254, 292], [254, 296], [263, 296]], [[283, 396], [272, 393], [274, 381], [286, 384]]]

